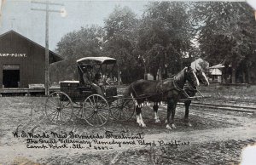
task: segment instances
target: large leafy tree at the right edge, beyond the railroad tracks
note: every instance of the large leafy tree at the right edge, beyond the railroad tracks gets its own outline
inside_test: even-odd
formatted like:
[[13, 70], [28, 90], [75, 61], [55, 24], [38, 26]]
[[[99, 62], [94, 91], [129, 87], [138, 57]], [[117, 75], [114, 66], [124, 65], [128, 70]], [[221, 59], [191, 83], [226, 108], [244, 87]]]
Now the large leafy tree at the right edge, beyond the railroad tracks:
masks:
[[238, 69], [251, 65], [247, 56], [255, 51], [253, 9], [247, 3], [195, 3], [194, 15], [201, 24], [198, 30], [202, 56], [213, 65], [230, 65], [231, 83], [236, 83], [237, 73], [245, 72]]

